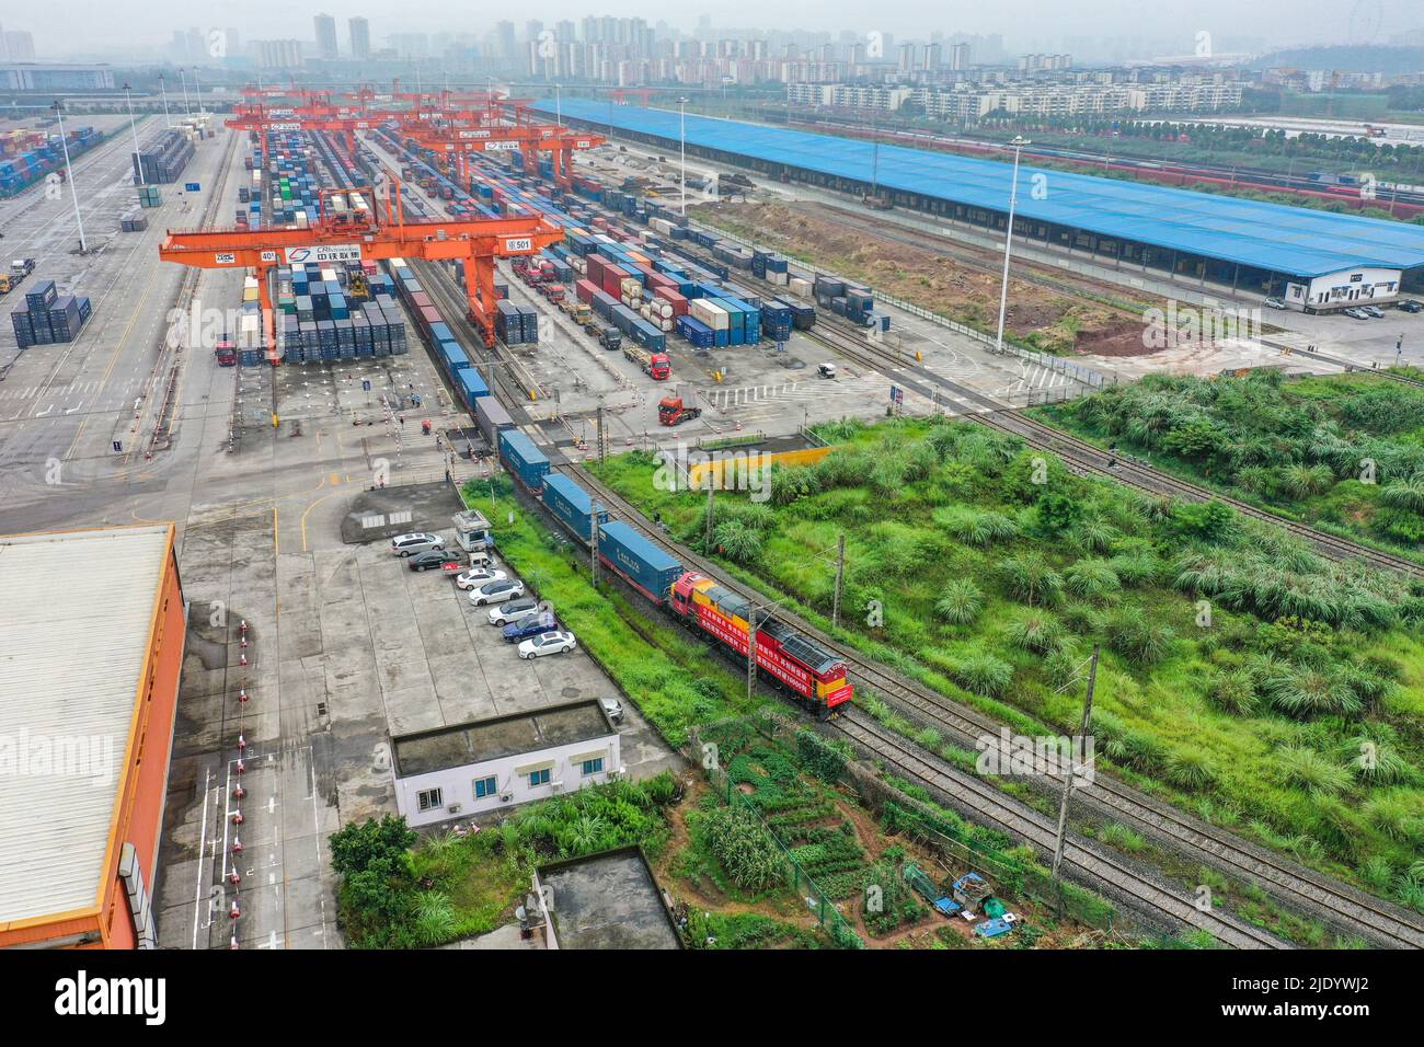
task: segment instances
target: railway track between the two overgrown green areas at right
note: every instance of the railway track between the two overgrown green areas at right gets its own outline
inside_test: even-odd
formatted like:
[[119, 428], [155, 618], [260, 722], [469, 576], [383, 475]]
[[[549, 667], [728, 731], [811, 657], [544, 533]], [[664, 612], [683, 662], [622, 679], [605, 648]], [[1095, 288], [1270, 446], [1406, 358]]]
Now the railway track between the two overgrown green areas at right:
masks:
[[864, 338], [860, 338], [850, 330], [843, 330], [836, 325], [817, 323], [805, 333], [826, 348], [849, 356], [862, 366], [884, 370], [887, 363], [891, 365], [896, 382], [904, 385], [913, 392], [921, 393], [926, 397], [933, 395], [934, 387], [961, 396], [963, 399], [984, 409], [983, 413], [967, 415], [965, 417], [970, 420], [978, 422], [980, 424], [991, 429], [998, 429], [1000, 432], [1011, 433], [1031, 447], [1057, 454], [1062, 457], [1069, 467], [1075, 467], [1075, 472], [1089, 472], [1106, 476], [1151, 494], [1173, 496], [1188, 499], [1190, 501], [1209, 501], [1215, 499], [1230, 506], [1242, 516], [1249, 516], [1255, 520], [1263, 520], [1277, 527], [1283, 527], [1292, 534], [1312, 543], [1331, 560], [1364, 560], [1371, 567], [1400, 571], [1401, 574], [1413, 577], [1424, 577], [1424, 566], [1417, 564], [1413, 560], [1396, 556], [1394, 553], [1386, 553], [1368, 546], [1361, 546], [1350, 538], [1327, 534], [1310, 527], [1309, 524], [1289, 520], [1265, 509], [1257, 509], [1256, 506], [1242, 501], [1240, 499], [1233, 499], [1227, 494], [1218, 494], [1206, 487], [1199, 487], [1186, 480], [1179, 480], [1178, 477], [1163, 473], [1152, 466], [1121, 459], [1116, 454], [1112, 454], [1111, 452], [1106, 452], [1081, 437], [1071, 436], [1059, 429], [1054, 429], [1052, 426], [1011, 410], [1004, 403], [985, 396], [975, 389], [970, 389], [965, 385], [941, 377], [940, 375], [914, 363], [914, 360], [901, 359], [890, 350], [881, 349]]

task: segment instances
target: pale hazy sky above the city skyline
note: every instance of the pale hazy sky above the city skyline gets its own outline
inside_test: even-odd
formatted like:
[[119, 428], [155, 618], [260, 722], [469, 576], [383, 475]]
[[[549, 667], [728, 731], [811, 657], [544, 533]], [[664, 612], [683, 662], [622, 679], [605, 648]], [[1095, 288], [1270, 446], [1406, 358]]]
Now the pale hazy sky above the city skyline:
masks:
[[[1180, 40], [1173, 53], [1189, 54], [1198, 33], [1210, 33], [1226, 47], [1232, 37], [1257, 37], [1269, 46], [1297, 43], [1387, 43], [1394, 33], [1424, 26], [1417, 0], [1017, 0], [1010, 4], [927, 3], [926, 0], [718, 0], [699, 9], [622, 0], [578, 3], [535, 0], [521, 4], [450, 4], [436, 0], [400, 0], [375, 4], [355, 0], [352, 6], [316, 6], [292, 0], [66, 0], [41, 4], [7, 4], [0, 16], [6, 28], [30, 30], [38, 57], [66, 51], [154, 53], [174, 28], [236, 28], [244, 38], [310, 40], [312, 16], [328, 11], [337, 19], [337, 36], [346, 46], [345, 20], [363, 14], [372, 21], [376, 46], [389, 33], [471, 31], [483, 33], [497, 19], [508, 17], [523, 30], [528, 19], [554, 23], [585, 14], [666, 19], [676, 28], [696, 27], [699, 10], [715, 11], [716, 27], [805, 28], [864, 33], [880, 30], [900, 38], [927, 38], [931, 31], [1002, 33], [1010, 48], [1047, 44], [1055, 38], [1126, 37], [1163, 41]], [[669, 9], [676, 13], [669, 17]], [[33, 11], [53, 11], [40, 16]], [[392, 14], [399, 10], [399, 16]]]

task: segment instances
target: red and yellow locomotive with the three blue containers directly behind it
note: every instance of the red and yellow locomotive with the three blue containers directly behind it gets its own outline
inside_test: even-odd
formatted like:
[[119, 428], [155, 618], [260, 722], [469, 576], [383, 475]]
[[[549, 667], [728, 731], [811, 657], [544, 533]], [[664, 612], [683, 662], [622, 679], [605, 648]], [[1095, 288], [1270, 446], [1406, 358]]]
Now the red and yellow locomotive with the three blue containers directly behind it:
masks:
[[588, 547], [598, 527], [598, 560], [638, 593], [686, 628], [713, 640], [723, 651], [746, 661], [750, 623], [756, 615], [756, 665], [763, 679], [786, 692], [819, 719], [830, 719], [854, 694], [846, 662], [815, 638], [753, 608], [715, 578], [689, 570], [621, 520], [600, 511], [594, 499], [561, 473], [550, 472], [548, 457], [517, 429], [500, 433], [498, 454], [515, 481], [540, 499], [550, 514]]

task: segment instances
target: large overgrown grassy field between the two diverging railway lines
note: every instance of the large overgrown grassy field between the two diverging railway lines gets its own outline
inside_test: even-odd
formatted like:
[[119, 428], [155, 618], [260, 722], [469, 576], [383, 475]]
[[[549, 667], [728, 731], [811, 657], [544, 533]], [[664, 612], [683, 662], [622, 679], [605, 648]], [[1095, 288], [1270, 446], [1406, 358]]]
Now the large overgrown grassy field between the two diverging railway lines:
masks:
[[[839, 449], [819, 466], [778, 470], [769, 510], [716, 496], [718, 520], [735, 517], [759, 538], [753, 558], [725, 564], [731, 574], [1027, 734], [1075, 729], [1082, 681], [1065, 681], [1102, 644], [1099, 759], [1208, 821], [1407, 903], [1418, 897], [1424, 826], [1405, 808], [1424, 808], [1424, 641], [1404, 615], [1421, 594], [1321, 561], [1222, 506], [1139, 500], [1054, 459], [1042, 463], [1048, 481], [1034, 484], [1037, 454], [974, 424], [896, 420], [820, 434]], [[656, 490], [641, 454], [600, 474], [701, 546], [705, 494]], [[965, 520], [984, 513], [1014, 526], [981, 536]], [[842, 627], [830, 630], [840, 533]], [[964, 580], [981, 607], [947, 618], [938, 604]], [[1292, 689], [1310, 685], [1309, 674], [1326, 681], [1306, 692], [1323, 704], [1302, 705]], [[1223, 677], [1245, 689], [1246, 708], [1220, 704]], [[873, 695], [859, 698], [876, 709]], [[1401, 776], [1350, 771], [1344, 781], [1330, 769], [1353, 766], [1364, 744]], [[1282, 756], [1287, 749], [1319, 759]]]

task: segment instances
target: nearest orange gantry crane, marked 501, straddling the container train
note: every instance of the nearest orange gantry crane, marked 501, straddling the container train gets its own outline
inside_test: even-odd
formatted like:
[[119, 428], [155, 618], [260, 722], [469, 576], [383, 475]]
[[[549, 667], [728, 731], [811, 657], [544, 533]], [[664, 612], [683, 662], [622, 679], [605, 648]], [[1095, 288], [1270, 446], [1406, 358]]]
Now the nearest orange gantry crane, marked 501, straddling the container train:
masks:
[[273, 266], [387, 258], [459, 261], [464, 266], [467, 315], [484, 343], [493, 346], [494, 259], [535, 255], [564, 238], [562, 228], [544, 215], [407, 222], [399, 182], [387, 184], [383, 205], [370, 187], [362, 187], [322, 189], [318, 207], [318, 219], [306, 229], [169, 229], [158, 258], [201, 269], [253, 269], [268, 359], [278, 363], [268, 281]]

